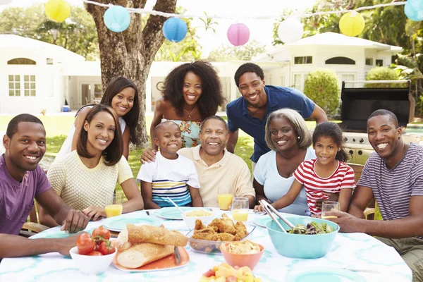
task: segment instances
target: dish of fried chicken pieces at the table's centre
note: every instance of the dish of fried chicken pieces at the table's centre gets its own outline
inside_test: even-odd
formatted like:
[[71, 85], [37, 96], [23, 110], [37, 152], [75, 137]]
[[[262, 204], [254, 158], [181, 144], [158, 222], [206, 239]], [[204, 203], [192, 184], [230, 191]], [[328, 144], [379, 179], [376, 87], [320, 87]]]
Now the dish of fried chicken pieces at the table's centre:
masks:
[[256, 226], [242, 221], [233, 222], [226, 214], [221, 218], [213, 219], [205, 226], [200, 219], [195, 221], [195, 228], [187, 234], [188, 244], [195, 252], [221, 255], [222, 243], [240, 241], [246, 239]]

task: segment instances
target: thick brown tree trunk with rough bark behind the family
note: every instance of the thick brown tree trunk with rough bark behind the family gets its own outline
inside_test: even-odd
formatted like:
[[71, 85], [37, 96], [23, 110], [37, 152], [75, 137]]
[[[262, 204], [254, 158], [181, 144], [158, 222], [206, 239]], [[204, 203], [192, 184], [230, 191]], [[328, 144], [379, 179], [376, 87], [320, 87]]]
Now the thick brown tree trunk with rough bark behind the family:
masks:
[[[102, 4], [114, 4], [128, 8], [144, 8], [147, 0], [97, 0]], [[132, 80], [138, 87], [140, 98], [140, 118], [137, 125], [138, 147], [149, 146], [145, 127], [145, 85], [154, 56], [164, 42], [161, 32], [167, 18], [150, 16], [144, 29], [139, 13], [130, 13], [130, 26], [124, 32], [112, 32], [104, 25], [106, 7], [85, 4], [88, 13], [94, 18], [99, 37], [100, 60], [102, 66], [103, 89], [111, 80], [123, 76]], [[155, 11], [175, 13], [176, 0], [157, 0]]]

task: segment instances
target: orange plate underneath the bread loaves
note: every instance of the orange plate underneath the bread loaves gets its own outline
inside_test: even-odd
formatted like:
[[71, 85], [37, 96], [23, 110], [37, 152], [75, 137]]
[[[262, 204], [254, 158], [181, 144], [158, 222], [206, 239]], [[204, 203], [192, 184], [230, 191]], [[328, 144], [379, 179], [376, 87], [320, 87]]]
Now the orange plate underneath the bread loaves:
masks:
[[180, 254], [180, 264], [176, 264], [175, 253], [173, 253], [172, 255], [168, 255], [167, 257], [164, 257], [163, 259], [159, 259], [155, 262], [150, 262], [149, 264], [145, 264], [141, 267], [138, 267], [137, 269], [128, 269], [126, 267], [121, 266], [116, 261], [116, 257], [114, 257], [113, 259], [113, 264], [118, 269], [121, 269], [123, 271], [135, 271], [135, 272], [176, 269], [178, 267], [185, 266], [185, 264], [188, 264], [188, 262], [190, 262], [190, 256], [188, 255], [188, 252], [185, 250], [185, 248], [178, 247], [178, 250]]

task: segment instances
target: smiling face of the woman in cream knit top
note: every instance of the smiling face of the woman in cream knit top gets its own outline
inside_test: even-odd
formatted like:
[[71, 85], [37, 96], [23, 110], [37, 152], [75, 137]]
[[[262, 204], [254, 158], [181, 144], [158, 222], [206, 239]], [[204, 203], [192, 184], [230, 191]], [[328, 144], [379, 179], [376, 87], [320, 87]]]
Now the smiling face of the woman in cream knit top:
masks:
[[99, 111], [91, 123], [85, 121], [84, 129], [87, 131], [87, 151], [90, 154], [98, 154], [114, 140], [116, 123], [110, 113]]

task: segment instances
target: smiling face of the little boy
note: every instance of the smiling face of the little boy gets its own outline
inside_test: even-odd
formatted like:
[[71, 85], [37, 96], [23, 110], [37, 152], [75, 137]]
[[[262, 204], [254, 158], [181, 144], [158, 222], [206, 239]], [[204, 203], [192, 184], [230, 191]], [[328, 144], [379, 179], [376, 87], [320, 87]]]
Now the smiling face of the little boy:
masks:
[[182, 134], [179, 126], [172, 121], [160, 123], [160, 126], [156, 128], [154, 143], [160, 148], [162, 156], [168, 157], [168, 154], [176, 154], [182, 147]]

